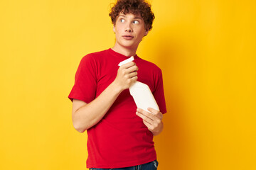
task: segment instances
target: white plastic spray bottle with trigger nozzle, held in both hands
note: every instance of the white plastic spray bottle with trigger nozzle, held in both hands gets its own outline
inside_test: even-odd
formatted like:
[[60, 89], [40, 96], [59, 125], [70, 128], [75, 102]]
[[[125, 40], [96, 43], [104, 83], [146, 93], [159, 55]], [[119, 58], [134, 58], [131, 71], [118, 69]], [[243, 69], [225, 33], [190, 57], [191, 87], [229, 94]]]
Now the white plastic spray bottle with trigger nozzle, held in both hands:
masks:
[[[132, 62], [134, 57], [129, 57], [129, 59], [120, 62], [118, 65], [126, 64], [127, 62]], [[156, 111], [159, 111], [159, 106], [156, 103], [156, 100], [149, 89], [149, 86], [136, 81], [132, 86], [129, 87], [129, 92], [134, 98], [137, 108], [142, 108], [144, 111], [148, 111], [147, 108], [154, 108]], [[148, 111], [149, 112], [149, 111]]]

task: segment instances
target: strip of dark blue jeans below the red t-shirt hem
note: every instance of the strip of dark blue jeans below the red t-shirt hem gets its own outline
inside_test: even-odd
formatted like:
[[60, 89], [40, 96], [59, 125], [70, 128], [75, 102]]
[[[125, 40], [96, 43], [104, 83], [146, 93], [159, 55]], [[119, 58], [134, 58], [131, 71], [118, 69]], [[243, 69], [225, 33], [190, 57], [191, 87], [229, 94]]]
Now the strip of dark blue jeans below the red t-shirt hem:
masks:
[[90, 170], [156, 170], [158, 166], [158, 162], [154, 160], [153, 162], [149, 162], [146, 164], [141, 164], [137, 166], [130, 166], [127, 168], [118, 168], [118, 169], [95, 169], [95, 168], [90, 168]]

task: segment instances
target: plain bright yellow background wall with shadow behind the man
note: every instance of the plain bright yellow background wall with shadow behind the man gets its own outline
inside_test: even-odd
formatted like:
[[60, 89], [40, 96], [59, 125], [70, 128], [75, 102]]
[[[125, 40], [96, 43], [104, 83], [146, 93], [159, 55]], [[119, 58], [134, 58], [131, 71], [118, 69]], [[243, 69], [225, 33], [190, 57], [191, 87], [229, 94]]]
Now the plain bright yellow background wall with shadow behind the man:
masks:
[[[114, 45], [112, 0], [1, 1], [0, 169], [85, 169], [68, 94]], [[164, 73], [159, 170], [256, 169], [256, 2], [152, 0], [137, 54]]]

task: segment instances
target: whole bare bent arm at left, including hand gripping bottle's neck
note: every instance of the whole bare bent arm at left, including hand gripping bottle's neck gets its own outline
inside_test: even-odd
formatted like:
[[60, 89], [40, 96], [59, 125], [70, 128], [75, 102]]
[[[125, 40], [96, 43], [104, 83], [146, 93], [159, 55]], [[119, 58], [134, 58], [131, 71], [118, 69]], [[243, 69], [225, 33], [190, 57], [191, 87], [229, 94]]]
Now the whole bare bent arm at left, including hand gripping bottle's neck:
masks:
[[134, 62], [119, 67], [117, 77], [105, 91], [90, 103], [73, 99], [72, 119], [73, 125], [78, 132], [96, 125], [110, 109], [119, 94], [128, 89], [137, 80], [138, 67]]

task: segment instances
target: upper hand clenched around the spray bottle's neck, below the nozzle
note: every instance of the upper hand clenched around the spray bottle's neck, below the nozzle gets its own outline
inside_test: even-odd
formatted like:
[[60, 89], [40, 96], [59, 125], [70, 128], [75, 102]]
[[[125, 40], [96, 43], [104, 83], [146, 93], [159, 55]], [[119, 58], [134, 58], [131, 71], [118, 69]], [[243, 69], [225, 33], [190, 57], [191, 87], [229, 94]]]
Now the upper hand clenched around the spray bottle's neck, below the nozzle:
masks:
[[129, 89], [129, 87], [137, 81], [137, 71], [138, 67], [135, 62], [128, 62], [119, 67], [117, 71], [117, 77], [114, 79], [114, 84], [119, 86], [123, 91], [124, 89]]

